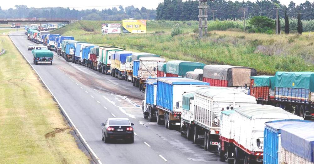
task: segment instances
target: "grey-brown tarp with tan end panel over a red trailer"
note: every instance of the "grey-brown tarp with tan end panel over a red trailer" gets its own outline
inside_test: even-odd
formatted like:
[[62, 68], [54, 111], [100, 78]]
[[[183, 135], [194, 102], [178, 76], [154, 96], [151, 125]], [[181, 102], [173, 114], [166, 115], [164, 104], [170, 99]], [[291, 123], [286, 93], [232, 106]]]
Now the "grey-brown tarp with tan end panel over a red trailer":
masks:
[[251, 76], [256, 76], [256, 69], [229, 65], [206, 65], [203, 77], [227, 80], [228, 87], [240, 87], [250, 84]]

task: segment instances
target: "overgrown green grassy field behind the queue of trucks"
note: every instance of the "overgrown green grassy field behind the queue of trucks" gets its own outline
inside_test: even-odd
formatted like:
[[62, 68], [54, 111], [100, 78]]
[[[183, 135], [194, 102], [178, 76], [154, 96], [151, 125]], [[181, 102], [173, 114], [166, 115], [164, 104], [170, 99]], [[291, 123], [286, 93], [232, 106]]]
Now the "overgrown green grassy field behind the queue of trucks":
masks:
[[[184, 32], [171, 37], [175, 26]], [[168, 60], [253, 67], [261, 75], [314, 70], [314, 33], [276, 36], [230, 29], [210, 31], [208, 37], [199, 40], [197, 27], [196, 21], [148, 21], [147, 34], [102, 36], [101, 21], [79, 21], [54, 33], [96, 45], [110, 44], [135, 52], [155, 53]]]

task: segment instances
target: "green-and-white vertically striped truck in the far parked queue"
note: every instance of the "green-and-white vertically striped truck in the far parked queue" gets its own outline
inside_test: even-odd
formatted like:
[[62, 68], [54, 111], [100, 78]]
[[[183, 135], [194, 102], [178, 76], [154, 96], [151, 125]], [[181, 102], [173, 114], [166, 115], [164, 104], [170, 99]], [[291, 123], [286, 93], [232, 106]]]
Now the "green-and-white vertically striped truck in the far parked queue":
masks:
[[[113, 46], [101, 46], [99, 48], [99, 58], [97, 60], [97, 70], [98, 72], [102, 72], [106, 75], [111, 75], [111, 62], [113, 58], [113, 54], [116, 51], [124, 51], [122, 48], [119, 47], [113, 47]], [[93, 59], [93, 62], [95, 64], [95, 60]]]

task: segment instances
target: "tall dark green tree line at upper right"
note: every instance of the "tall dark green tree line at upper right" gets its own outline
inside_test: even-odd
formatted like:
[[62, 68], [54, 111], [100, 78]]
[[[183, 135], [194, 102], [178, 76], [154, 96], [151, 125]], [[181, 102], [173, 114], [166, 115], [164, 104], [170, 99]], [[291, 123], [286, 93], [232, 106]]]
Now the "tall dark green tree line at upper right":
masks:
[[[156, 9], [157, 20], [198, 20], [198, 1], [164, 0]], [[296, 5], [291, 1], [288, 6], [278, 0], [257, 0], [256, 2], [232, 2], [228, 0], [208, 1], [208, 20], [235, 20], [254, 16], [276, 18], [276, 9], [279, 16], [284, 17], [285, 11], [289, 17], [296, 18], [300, 13], [303, 20], [314, 19], [314, 2], [306, 1]]]

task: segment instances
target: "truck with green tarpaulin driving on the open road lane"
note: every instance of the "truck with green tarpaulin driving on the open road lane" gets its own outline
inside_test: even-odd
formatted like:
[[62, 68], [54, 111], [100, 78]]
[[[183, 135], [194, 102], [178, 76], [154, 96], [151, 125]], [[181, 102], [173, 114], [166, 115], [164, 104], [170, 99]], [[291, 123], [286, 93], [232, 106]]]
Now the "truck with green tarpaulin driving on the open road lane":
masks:
[[33, 63], [38, 64], [50, 64], [52, 65], [53, 52], [49, 50], [32, 50]]

